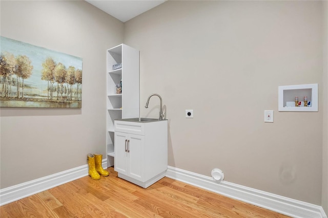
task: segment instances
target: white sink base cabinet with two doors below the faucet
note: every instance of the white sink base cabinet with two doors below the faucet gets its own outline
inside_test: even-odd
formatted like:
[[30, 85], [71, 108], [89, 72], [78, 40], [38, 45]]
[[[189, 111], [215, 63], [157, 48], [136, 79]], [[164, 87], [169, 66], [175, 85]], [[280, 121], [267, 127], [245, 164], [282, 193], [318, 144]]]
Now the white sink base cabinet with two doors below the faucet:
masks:
[[147, 188], [165, 177], [168, 167], [168, 120], [115, 120], [118, 177]]

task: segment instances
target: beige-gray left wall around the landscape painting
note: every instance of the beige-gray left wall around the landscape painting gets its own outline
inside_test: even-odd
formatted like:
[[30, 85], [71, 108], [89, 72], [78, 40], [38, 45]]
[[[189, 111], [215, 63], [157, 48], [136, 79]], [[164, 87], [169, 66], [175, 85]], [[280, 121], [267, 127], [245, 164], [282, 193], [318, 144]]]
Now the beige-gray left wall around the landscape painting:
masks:
[[106, 155], [106, 50], [124, 24], [85, 1], [0, 4], [2, 36], [83, 58], [81, 109], [1, 108], [1, 188]]

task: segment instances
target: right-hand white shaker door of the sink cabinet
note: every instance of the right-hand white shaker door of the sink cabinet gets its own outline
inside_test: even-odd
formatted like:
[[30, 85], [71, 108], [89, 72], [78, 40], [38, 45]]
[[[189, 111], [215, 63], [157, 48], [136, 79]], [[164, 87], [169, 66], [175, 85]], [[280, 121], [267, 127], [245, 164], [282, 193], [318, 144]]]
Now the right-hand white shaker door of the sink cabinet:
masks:
[[[142, 181], [142, 170], [144, 170], [144, 136], [129, 135], [129, 148], [128, 148], [128, 166], [129, 177]], [[116, 158], [115, 158], [116, 159]]]

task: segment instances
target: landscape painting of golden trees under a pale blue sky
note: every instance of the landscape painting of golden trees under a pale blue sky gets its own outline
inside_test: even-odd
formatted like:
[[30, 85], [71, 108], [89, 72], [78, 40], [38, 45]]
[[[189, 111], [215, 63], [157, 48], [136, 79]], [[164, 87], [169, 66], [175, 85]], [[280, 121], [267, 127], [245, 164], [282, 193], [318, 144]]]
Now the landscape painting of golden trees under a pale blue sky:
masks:
[[0, 37], [1, 107], [81, 108], [82, 58]]

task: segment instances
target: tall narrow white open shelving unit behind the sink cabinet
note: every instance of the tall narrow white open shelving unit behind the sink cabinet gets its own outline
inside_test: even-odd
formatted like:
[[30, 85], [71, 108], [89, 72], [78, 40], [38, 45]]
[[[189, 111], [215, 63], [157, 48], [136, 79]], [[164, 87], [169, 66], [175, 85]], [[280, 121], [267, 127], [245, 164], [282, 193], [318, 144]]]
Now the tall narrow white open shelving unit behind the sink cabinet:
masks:
[[[122, 63], [120, 69], [113, 65]], [[122, 93], [116, 85], [122, 82]], [[107, 50], [107, 166], [114, 165], [114, 120], [139, 117], [139, 51], [125, 44]]]

